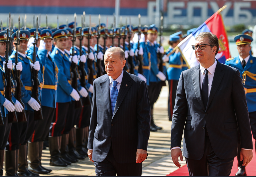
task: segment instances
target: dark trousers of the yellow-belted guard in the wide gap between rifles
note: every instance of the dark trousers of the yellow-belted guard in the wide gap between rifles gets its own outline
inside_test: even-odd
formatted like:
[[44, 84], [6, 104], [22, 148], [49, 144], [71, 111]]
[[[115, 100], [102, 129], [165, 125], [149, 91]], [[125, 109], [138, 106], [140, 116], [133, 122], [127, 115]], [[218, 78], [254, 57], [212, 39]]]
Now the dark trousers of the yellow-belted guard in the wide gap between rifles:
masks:
[[49, 134], [49, 128], [55, 115], [55, 108], [42, 106], [43, 120], [38, 120], [36, 129], [29, 140], [30, 142], [44, 141]]

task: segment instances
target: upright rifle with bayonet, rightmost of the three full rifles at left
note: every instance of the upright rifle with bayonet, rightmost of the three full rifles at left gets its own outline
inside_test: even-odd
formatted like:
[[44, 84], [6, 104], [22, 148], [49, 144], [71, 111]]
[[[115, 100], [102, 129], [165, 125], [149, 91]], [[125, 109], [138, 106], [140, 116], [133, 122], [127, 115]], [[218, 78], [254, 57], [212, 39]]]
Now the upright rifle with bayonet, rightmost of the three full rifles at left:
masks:
[[[34, 49], [33, 49], [33, 63], [36, 61], [36, 45], [38, 42], [38, 16], [36, 17], [36, 30], [34, 31]], [[38, 87], [40, 86], [40, 81], [38, 79], [38, 71], [32, 68], [32, 98], [34, 98], [41, 106], [41, 101], [38, 99]], [[39, 111], [34, 110], [34, 120], [43, 120], [42, 108]]]

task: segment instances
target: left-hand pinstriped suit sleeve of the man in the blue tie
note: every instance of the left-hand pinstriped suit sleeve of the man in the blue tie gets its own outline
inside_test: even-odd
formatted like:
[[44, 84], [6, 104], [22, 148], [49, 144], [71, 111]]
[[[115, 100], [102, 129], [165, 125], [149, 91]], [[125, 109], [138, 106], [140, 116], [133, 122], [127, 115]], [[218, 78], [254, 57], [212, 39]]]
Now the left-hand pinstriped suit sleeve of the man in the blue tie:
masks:
[[95, 82], [93, 81], [91, 119], [90, 119], [89, 137], [88, 137], [88, 145], [87, 145], [88, 149], [93, 149], [94, 132], [95, 132], [96, 126], [98, 125], [96, 94], [97, 94], [96, 86], [95, 86]]

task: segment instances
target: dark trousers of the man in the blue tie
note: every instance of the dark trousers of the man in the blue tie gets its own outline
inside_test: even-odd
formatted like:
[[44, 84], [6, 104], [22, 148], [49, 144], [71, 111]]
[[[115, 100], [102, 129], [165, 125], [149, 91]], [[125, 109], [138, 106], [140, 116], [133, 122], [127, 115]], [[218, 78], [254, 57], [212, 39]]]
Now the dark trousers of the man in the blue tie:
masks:
[[106, 159], [103, 162], [95, 162], [95, 173], [97, 176], [141, 176], [142, 163], [124, 163], [116, 162], [112, 145]]

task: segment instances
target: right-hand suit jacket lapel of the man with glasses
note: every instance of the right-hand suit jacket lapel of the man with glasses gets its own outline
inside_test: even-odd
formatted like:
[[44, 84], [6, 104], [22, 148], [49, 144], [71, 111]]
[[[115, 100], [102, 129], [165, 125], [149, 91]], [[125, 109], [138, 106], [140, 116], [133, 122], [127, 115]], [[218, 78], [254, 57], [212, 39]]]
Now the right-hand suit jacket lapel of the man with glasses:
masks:
[[215, 95], [217, 89], [219, 88], [221, 80], [224, 76], [224, 73], [221, 72], [222, 70], [223, 70], [223, 67], [221, 66], [221, 63], [217, 60], [217, 66], [216, 66], [215, 73], [213, 76], [213, 83], [212, 83], [212, 87], [211, 87], [211, 91], [210, 91], [210, 96], [209, 96], [205, 110], [207, 110], [207, 108], [209, 107], [211, 101], [213, 100], [213, 96]]

